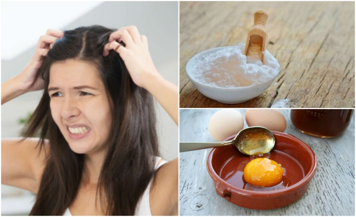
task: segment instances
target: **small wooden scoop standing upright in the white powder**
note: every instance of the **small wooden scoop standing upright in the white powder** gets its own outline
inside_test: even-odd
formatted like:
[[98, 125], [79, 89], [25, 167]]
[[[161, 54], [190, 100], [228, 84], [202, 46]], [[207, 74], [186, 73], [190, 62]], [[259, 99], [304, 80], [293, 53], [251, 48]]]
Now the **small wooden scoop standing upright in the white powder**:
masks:
[[263, 51], [265, 51], [266, 47], [266, 40], [267, 40], [267, 33], [265, 32], [265, 24], [267, 21], [267, 14], [264, 10], [258, 10], [254, 14], [255, 22], [253, 24], [253, 28], [248, 31], [247, 40], [246, 40], [246, 47], [244, 54], [247, 56], [248, 50], [252, 43], [261, 46], [261, 61], [263, 63], [264, 55]]

